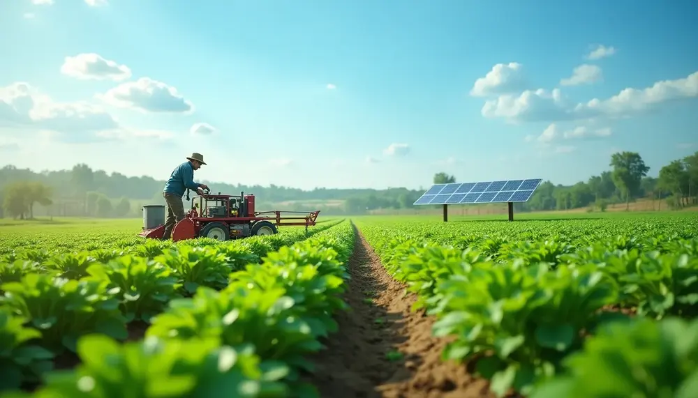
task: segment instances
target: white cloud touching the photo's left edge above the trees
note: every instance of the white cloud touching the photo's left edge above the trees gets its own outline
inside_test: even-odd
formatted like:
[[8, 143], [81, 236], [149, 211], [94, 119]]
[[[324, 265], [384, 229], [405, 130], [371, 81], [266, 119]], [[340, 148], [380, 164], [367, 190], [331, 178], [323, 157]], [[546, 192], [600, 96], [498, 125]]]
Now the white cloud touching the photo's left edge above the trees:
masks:
[[0, 87], [0, 123], [80, 134], [117, 128], [104, 109], [87, 102], [54, 102], [27, 83]]

